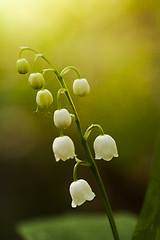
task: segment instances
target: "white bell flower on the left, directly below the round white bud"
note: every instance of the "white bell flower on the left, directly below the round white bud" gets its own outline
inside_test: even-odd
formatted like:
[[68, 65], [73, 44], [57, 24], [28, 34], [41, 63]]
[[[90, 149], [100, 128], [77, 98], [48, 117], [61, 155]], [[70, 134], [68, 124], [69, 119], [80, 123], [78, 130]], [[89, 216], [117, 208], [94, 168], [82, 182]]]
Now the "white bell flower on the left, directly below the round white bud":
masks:
[[57, 162], [60, 159], [66, 161], [67, 159], [74, 158], [76, 156], [73, 141], [68, 136], [55, 138], [52, 148]]

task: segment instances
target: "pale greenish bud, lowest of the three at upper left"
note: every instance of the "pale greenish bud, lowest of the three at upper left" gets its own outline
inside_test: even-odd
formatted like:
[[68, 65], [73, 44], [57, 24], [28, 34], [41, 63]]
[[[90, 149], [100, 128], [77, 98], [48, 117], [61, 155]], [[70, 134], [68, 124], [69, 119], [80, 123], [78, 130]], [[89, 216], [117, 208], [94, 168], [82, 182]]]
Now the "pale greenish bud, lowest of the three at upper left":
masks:
[[36, 103], [40, 107], [42, 108], [49, 107], [49, 105], [51, 105], [52, 102], [53, 102], [53, 97], [50, 91], [48, 91], [47, 89], [44, 89], [37, 92]]

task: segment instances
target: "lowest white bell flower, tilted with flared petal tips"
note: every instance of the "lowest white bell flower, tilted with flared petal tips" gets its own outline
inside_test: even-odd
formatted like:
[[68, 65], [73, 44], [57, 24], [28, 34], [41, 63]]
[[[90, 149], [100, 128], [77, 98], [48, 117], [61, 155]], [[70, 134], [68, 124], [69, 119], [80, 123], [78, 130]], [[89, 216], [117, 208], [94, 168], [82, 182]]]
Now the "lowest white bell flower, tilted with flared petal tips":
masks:
[[79, 179], [76, 182], [72, 182], [69, 188], [73, 208], [82, 205], [85, 201], [91, 201], [95, 197], [91, 187], [84, 179]]

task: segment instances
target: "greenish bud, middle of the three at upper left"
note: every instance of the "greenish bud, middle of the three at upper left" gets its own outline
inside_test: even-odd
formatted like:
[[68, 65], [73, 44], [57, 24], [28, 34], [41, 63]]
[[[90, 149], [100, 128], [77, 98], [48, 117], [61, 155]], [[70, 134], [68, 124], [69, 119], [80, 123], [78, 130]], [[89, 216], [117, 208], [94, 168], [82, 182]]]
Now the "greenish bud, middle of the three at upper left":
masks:
[[45, 80], [41, 73], [31, 73], [28, 78], [28, 83], [34, 89], [41, 89], [45, 85]]

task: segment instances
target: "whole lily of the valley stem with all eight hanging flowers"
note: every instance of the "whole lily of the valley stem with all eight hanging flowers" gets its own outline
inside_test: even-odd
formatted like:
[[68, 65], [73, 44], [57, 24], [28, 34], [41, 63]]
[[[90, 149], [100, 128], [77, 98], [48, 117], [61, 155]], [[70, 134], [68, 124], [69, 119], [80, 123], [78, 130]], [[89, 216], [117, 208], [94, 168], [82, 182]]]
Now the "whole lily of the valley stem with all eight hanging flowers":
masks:
[[[73, 169], [73, 182], [69, 187], [69, 191], [72, 198], [71, 206], [73, 208], [82, 205], [85, 201], [91, 201], [95, 197], [95, 193], [92, 191], [88, 182], [84, 179], [77, 179], [77, 169], [80, 165], [88, 167], [95, 178], [97, 186], [99, 188], [107, 216], [111, 225], [112, 233], [115, 240], [119, 240], [118, 231], [113, 218], [110, 203], [105, 191], [102, 179], [100, 177], [99, 171], [97, 169], [94, 157], [91, 154], [88, 137], [94, 128], [99, 130], [99, 136], [95, 139], [93, 143], [93, 148], [95, 152], [95, 159], [104, 159], [105, 161], [110, 161], [113, 157], [118, 157], [117, 146], [115, 140], [108, 134], [105, 134], [102, 127], [98, 124], [92, 124], [83, 133], [81, 128], [80, 118], [78, 116], [76, 107], [70, 95], [70, 92], [64, 81], [64, 75], [69, 70], [74, 70], [78, 76], [77, 79], [73, 81], [73, 93], [77, 96], [84, 97], [90, 93], [90, 86], [85, 78], [82, 78], [77, 68], [73, 66], [68, 66], [64, 68], [60, 73], [55, 68], [55, 66], [42, 54], [39, 54], [32, 48], [22, 47], [19, 53], [19, 60], [17, 60], [17, 70], [20, 74], [26, 74], [29, 72], [29, 63], [26, 58], [22, 58], [22, 53], [25, 50], [30, 50], [35, 53], [34, 59], [34, 73], [31, 73], [28, 78], [28, 83], [31, 88], [38, 90], [36, 95], [37, 109], [46, 109], [53, 103], [52, 93], [45, 88], [45, 74], [48, 71], [53, 72], [56, 75], [59, 83], [60, 89], [57, 92], [57, 110], [53, 114], [53, 121], [57, 128], [59, 128], [60, 136], [57, 136], [52, 144], [53, 153], [55, 160], [58, 162], [60, 160], [66, 161], [69, 159], [75, 159], [76, 163]], [[45, 60], [49, 68], [44, 69], [42, 73], [37, 71], [37, 59], [42, 58]], [[61, 95], [65, 94], [66, 98], [71, 105], [72, 113], [69, 113], [67, 109], [61, 106]], [[72, 120], [73, 119], [73, 120]], [[68, 128], [72, 121], [75, 121], [77, 129], [80, 135], [82, 147], [84, 149], [86, 160], [79, 160], [76, 155], [75, 146], [72, 139], [64, 134], [64, 130]]]

